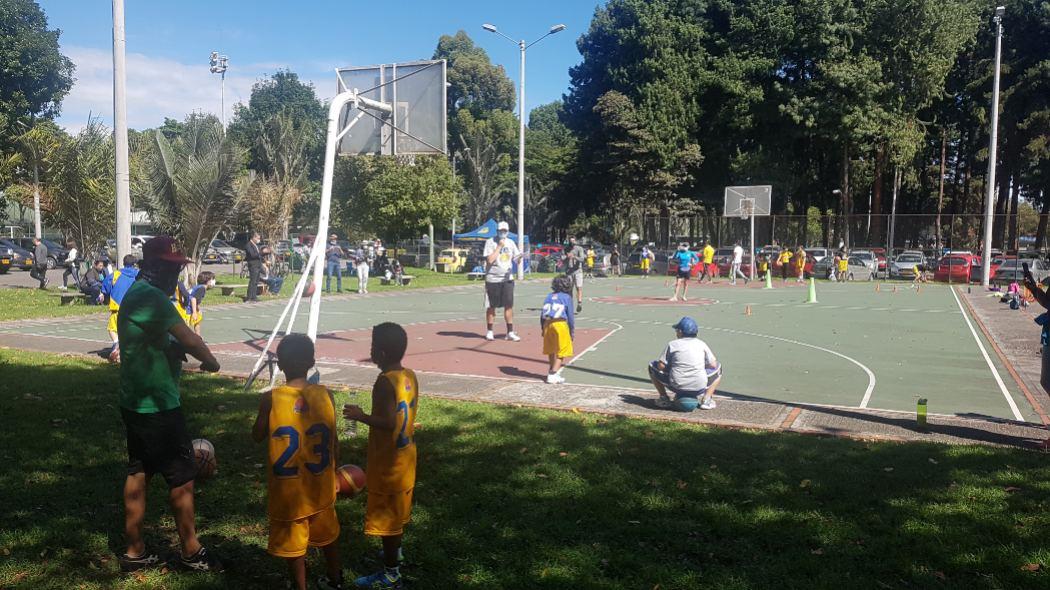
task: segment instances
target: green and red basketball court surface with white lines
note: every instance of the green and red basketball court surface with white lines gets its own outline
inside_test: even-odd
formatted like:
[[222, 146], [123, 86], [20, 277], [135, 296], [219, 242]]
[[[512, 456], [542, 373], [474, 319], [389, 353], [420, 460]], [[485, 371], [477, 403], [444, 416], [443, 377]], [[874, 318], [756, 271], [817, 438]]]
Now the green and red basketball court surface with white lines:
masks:
[[[591, 280], [576, 319], [581, 343], [564, 386], [651, 392], [647, 363], [674, 337], [671, 324], [690, 315], [722, 363], [719, 394], [726, 397], [905, 412], [915, 412], [917, 400], [927, 398], [930, 414], [1040, 421], [947, 286], [917, 291], [908, 283], [885, 282], [876, 291], [874, 282], [821, 281], [817, 303], [803, 302], [805, 286], [777, 280], [774, 287], [693, 282], [689, 301], [673, 303], [667, 300], [666, 277]], [[396, 321], [410, 328], [405, 364], [416, 361], [423, 373], [536, 380], [545, 366], [537, 329], [547, 292], [546, 281], [518, 286], [516, 325], [525, 336], [519, 343], [482, 339], [481, 283], [326, 299], [318, 357], [366, 363], [368, 329]], [[296, 330], [306, 330], [306, 308]], [[249, 342], [265, 338], [280, 311], [278, 303], [213, 309], [206, 303], [205, 337], [217, 352], [256, 354], [257, 344]], [[3, 332], [107, 341], [102, 317], [28, 322]], [[497, 334], [502, 333], [499, 321]]]

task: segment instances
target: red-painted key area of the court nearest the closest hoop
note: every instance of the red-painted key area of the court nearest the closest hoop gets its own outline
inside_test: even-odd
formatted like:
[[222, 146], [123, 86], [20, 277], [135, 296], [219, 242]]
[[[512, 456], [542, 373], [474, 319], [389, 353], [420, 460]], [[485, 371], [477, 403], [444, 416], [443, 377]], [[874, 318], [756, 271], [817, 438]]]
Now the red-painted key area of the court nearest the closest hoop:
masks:
[[[405, 325], [408, 352], [404, 365], [423, 373], [452, 373], [506, 379], [532, 380], [547, 376], [547, 357], [543, 354], [540, 321], [534, 317], [514, 324], [521, 342], [508, 342], [506, 325], [497, 324], [496, 340], [485, 340], [484, 323], [478, 321], [442, 321]], [[573, 349], [576, 354], [587, 350], [603, 336], [606, 329], [576, 328]], [[372, 329], [348, 330], [317, 336], [318, 361], [370, 364]], [[216, 353], [257, 353], [266, 339], [219, 344]]]

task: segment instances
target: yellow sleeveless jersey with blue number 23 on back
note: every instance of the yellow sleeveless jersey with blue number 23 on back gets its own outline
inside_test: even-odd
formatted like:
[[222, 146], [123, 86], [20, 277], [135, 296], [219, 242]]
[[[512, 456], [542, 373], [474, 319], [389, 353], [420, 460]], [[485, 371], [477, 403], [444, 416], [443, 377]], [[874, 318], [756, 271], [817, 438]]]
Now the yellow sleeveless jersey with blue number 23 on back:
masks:
[[304, 519], [335, 502], [335, 407], [322, 385], [282, 385], [272, 395], [270, 519]]

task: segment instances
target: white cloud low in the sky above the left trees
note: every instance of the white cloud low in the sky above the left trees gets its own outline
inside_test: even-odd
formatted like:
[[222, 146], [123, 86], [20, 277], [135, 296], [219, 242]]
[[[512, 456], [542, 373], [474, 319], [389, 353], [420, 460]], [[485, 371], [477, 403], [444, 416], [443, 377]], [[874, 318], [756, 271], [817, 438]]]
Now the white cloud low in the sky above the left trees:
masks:
[[[77, 64], [76, 82], [62, 102], [59, 124], [77, 131], [88, 115], [99, 117], [107, 126], [113, 122], [113, 60], [110, 49], [63, 47]], [[226, 117], [231, 121], [233, 105], [248, 102], [252, 84], [287, 65], [257, 63], [231, 64], [226, 76]], [[309, 78], [303, 78], [309, 82]], [[333, 86], [334, 83], [329, 83]], [[322, 84], [315, 88], [326, 97]], [[219, 77], [208, 70], [207, 61], [184, 64], [166, 58], [127, 54], [128, 126], [132, 129], [156, 127], [165, 117], [182, 120], [194, 111], [218, 115], [220, 110]]]

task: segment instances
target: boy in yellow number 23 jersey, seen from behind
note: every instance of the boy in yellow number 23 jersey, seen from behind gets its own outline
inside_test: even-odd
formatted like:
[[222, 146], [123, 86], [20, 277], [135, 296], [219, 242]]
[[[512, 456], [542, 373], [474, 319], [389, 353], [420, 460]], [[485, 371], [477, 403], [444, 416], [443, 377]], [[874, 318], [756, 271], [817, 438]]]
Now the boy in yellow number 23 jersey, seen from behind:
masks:
[[267, 481], [271, 555], [288, 561], [298, 590], [307, 588], [307, 548], [320, 547], [327, 575], [322, 589], [341, 589], [339, 518], [335, 512], [335, 401], [323, 385], [307, 381], [314, 366], [314, 343], [289, 334], [277, 345], [285, 384], [259, 399], [252, 427], [255, 442], [269, 439]]

